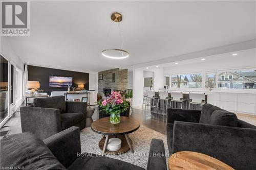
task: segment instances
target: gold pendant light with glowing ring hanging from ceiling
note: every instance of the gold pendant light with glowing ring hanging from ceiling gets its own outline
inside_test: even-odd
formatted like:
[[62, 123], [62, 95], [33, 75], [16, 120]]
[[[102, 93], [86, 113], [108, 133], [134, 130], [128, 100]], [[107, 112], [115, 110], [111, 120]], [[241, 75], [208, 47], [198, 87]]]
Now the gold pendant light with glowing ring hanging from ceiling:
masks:
[[[114, 12], [111, 14], [111, 20], [118, 23], [118, 31], [119, 31], [119, 37], [121, 41], [121, 48], [108, 48], [103, 50], [101, 53], [104, 57], [111, 58], [111, 59], [124, 59], [129, 57], [129, 53], [125, 50], [123, 50], [123, 40], [121, 36], [121, 31], [119, 27], [119, 23], [123, 20], [122, 14], [119, 12]], [[110, 29], [109, 29], [110, 30]], [[108, 41], [109, 33], [107, 35], [107, 41]]]

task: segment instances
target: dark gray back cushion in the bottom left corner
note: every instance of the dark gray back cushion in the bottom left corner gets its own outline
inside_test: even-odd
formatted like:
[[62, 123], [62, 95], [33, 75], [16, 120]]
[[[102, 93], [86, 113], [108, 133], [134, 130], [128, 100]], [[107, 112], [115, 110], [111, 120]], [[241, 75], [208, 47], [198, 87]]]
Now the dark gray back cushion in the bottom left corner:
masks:
[[31, 133], [7, 135], [1, 139], [1, 168], [66, 169], [45, 143]]

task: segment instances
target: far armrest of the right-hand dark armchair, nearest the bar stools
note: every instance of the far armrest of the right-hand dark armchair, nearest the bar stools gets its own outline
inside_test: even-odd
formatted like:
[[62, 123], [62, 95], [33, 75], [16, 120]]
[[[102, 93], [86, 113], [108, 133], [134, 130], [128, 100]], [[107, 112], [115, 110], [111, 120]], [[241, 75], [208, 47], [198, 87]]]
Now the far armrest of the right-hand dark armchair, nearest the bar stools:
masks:
[[175, 120], [199, 123], [200, 115], [201, 110], [167, 109], [167, 123], [173, 124]]

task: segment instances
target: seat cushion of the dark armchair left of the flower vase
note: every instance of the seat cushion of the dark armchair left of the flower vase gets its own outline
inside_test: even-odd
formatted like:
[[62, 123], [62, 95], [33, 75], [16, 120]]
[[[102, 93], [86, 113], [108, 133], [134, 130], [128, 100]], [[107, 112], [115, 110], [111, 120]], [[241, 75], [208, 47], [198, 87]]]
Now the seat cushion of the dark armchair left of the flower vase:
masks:
[[81, 120], [84, 121], [83, 113], [62, 113], [60, 117], [62, 130], [72, 127]]

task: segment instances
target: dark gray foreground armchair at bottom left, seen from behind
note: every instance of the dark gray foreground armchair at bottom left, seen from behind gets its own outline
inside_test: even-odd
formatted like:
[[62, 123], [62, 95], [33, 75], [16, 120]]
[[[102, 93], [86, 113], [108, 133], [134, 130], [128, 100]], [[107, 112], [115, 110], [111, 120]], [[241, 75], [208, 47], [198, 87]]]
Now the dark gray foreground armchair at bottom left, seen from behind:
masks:
[[[153, 153], [158, 156], [153, 156]], [[161, 155], [160, 155], [161, 154]], [[164, 144], [152, 139], [147, 162], [148, 170], [166, 170]], [[143, 170], [144, 168], [121, 160], [95, 154], [81, 154], [78, 127], [63, 130], [42, 141], [31, 133], [5, 136], [1, 139], [1, 168], [24, 169], [90, 169]]]

